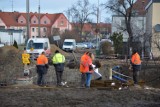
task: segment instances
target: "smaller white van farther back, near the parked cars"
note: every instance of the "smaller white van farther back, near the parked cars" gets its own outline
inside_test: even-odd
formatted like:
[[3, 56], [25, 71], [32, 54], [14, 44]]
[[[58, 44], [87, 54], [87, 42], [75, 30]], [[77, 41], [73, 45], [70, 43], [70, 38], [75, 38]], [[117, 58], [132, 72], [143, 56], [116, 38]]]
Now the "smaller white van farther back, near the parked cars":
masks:
[[76, 40], [75, 39], [65, 39], [63, 42], [62, 49], [64, 51], [75, 51], [76, 50]]

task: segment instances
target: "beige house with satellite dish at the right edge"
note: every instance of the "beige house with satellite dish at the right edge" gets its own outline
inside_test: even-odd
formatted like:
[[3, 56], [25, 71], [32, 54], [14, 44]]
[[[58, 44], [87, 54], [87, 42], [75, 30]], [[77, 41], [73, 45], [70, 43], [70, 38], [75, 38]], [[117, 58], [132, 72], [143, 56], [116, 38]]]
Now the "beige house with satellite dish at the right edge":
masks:
[[146, 33], [150, 38], [153, 56], [160, 56], [160, 0], [150, 0], [146, 6]]

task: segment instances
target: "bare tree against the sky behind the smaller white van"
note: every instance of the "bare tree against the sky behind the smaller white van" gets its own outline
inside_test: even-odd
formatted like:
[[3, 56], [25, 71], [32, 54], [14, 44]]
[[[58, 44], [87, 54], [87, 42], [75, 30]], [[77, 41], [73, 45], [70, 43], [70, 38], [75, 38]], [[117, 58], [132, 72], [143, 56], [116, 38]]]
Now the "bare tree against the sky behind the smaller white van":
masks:
[[68, 13], [72, 16], [74, 27], [77, 28], [80, 35], [82, 35], [84, 24], [90, 21], [89, 16], [93, 14], [89, 1], [79, 0], [75, 5], [72, 5], [68, 11]]

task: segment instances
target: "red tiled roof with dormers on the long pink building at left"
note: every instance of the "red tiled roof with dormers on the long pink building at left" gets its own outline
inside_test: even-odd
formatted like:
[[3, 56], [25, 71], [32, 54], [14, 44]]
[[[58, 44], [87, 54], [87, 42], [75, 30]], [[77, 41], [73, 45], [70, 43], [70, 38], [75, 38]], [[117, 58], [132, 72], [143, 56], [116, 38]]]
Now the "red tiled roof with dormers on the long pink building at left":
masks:
[[[57, 14], [40, 14], [40, 18], [42, 18], [43, 16], [46, 16], [49, 18], [49, 20], [51, 21], [50, 25], [41, 25], [41, 26], [52, 26], [54, 24], [54, 22], [59, 18], [60, 15], [62, 15], [63, 13], [57, 13]], [[6, 24], [6, 26], [24, 26], [26, 24], [21, 24], [18, 23], [18, 18], [20, 16], [23, 16], [25, 19], [27, 19], [27, 14], [26, 13], [20, 13], [20, 12], [0, 12], [0, 18], [3, 20], [3, 22]], [[36, 16], [38, 18], [38, 13], [32, 13], [30, 12], [30, 19], [33, 16]], [[33, 26], [33, 25], [31, 25]], [[36, 25], [38, 26], [38, 25]]]

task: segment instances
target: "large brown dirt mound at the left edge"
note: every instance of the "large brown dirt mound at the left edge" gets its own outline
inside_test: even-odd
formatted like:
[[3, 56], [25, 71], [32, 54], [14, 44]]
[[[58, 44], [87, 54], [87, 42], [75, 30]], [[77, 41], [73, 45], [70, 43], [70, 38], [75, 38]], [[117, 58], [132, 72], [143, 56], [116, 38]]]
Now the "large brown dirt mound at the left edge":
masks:
[[13, 46], [0, 48], [0, 82], [10, 83], [23, 74], [22, 52]]

